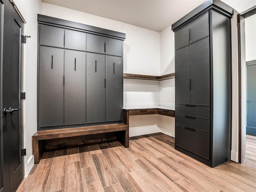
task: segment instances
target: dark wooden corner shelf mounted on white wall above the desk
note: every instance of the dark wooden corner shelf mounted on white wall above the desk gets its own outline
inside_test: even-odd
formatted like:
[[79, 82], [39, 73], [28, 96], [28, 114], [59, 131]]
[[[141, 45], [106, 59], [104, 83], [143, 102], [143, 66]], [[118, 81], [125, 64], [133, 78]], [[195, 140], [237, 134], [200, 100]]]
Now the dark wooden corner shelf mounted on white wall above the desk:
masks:
[[166, 79], [173, 79], [173, 78], [175, 78], [175, 73], [170, 73], [170, 74], [161, 75], [161, 76], [139, 75], [139, 74], [124, 73], [124, 78], [125, 79], [143, 79], [143, 80], [162, 81], [162, 80], [166, 80]]

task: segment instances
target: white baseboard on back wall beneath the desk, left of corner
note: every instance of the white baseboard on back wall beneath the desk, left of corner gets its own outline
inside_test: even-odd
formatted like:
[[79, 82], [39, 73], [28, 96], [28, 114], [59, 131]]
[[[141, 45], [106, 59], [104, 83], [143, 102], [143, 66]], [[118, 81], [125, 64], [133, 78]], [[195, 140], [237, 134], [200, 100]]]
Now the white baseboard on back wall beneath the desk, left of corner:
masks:
[[160, 129], [156, 125], [130, 127], [129, 128], [129, 137], [158, 133], [158, 132], [160, 132]]

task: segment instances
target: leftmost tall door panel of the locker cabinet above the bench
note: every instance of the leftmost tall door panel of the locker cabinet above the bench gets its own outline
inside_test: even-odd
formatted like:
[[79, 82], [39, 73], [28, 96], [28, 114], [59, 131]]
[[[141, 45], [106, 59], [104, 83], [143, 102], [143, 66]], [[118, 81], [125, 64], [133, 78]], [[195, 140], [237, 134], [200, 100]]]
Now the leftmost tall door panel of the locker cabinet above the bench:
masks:
[[63, 125], [64, 50], [40, 46], [39, 126]]

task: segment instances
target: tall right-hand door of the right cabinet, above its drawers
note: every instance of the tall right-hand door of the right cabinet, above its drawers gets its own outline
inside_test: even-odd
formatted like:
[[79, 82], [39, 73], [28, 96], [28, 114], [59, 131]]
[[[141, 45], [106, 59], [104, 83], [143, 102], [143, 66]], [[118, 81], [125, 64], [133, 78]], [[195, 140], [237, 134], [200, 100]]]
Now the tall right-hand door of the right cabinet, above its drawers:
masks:
[[190, 45], [190, 103], [210, 106], [209, 37]]

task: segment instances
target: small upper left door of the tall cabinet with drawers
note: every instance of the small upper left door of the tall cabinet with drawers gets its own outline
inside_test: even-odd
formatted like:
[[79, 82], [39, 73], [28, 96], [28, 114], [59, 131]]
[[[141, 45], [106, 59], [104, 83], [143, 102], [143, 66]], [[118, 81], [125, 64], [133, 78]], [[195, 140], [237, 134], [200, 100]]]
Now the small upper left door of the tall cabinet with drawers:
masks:
[[189, 40], [189, 24], [175, 31], [175, 49], [188, 45]]

